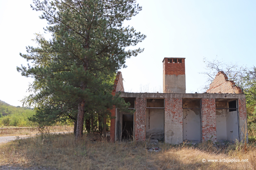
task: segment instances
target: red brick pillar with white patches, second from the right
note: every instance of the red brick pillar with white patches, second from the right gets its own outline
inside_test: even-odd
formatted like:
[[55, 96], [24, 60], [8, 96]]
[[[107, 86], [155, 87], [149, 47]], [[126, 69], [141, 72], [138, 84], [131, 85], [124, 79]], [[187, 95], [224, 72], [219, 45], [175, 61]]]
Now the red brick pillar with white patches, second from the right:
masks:
[[202, 99], [202, 141], [216, 142], [216, 105], [215, 99]]

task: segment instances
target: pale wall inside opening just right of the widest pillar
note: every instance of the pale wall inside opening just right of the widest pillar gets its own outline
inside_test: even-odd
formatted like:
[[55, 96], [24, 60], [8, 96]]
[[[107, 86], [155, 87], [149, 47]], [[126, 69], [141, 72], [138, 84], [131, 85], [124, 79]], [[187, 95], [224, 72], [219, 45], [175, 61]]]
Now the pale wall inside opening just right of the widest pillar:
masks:
[[201, 100], [182, 99], [183, 141], [201, 141]]

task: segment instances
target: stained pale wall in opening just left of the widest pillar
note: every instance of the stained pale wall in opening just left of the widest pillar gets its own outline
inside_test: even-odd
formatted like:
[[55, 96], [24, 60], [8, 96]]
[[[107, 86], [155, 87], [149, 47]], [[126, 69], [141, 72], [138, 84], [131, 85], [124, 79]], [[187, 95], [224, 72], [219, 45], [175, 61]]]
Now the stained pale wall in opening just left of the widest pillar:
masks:
[[164, 141], [164, 108], [146, 108], [146, 138]]

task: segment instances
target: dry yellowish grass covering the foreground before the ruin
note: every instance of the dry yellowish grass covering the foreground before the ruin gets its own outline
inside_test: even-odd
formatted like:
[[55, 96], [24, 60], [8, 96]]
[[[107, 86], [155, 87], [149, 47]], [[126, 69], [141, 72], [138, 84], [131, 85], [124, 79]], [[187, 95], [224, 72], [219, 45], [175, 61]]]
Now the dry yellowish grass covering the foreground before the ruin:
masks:
[[[96, 142], [95, 142], [96, 141]], [[173, 169], [256, 170], [253, 144], [216, 149], [211, 143], [159, 144], [161, 152], [148, 152], [146, 143], [109, 143], [89, 134], [76, 142], [73, 134], [16, 140], [0, 145], [0, 165], [47, 166], [59, 169]], [[156, 145], [155, 145], [156, 147]], [[202, 159], [206, 159], [203, 163]], [[249, 162], [208, 162], [207, 159], [248, 159]]]

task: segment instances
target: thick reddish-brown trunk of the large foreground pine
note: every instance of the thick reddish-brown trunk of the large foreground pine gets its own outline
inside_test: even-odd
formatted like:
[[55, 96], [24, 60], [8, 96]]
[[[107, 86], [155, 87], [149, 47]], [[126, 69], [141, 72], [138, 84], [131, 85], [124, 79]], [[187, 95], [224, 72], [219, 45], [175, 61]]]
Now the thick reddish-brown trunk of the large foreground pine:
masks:
[[76, 139], [82, 139], [82, 137], [83, 137], [84, 105], [85, 105], [84, 100], [81, 100], [80, 103], [78, 104]]

